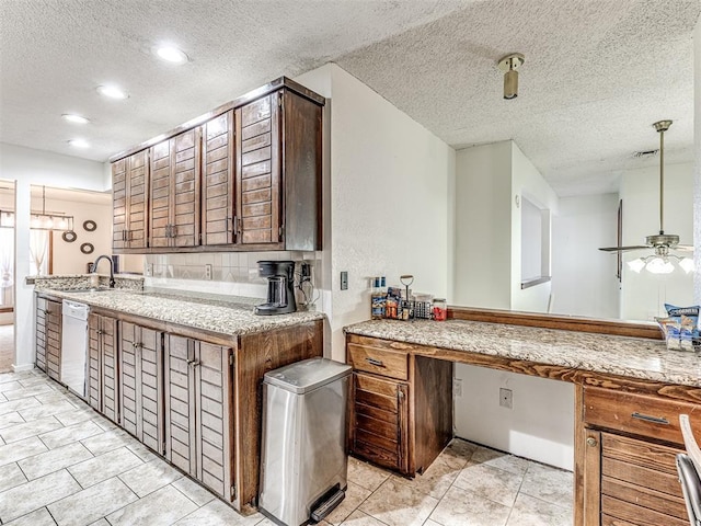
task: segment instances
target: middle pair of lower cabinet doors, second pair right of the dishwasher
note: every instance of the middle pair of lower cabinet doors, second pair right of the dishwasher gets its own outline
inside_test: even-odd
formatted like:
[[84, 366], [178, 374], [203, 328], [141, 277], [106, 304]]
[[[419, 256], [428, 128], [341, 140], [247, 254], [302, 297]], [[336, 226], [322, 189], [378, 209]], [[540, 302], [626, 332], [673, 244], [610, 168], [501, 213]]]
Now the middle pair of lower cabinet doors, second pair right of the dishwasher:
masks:
[[162, 451], [162, 333], [129, 322], [120, 325], [119, 399], [122, 426]]

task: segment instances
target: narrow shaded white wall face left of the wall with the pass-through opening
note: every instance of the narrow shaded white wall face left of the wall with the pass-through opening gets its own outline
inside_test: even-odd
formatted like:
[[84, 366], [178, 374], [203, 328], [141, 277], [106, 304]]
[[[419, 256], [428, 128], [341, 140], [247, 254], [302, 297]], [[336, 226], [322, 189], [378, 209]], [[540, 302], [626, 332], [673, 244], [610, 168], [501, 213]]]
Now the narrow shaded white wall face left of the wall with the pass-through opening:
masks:
[[512, 144], [459, 150], [455, 178], [456, 305], [512, 308]]

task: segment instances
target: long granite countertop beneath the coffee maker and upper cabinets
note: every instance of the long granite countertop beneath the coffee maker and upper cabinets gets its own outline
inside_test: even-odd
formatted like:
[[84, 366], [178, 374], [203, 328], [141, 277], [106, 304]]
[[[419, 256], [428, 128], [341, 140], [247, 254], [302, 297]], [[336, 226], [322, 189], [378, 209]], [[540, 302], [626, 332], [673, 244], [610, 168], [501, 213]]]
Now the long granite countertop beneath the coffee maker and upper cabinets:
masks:
[[116, 310], [134, 316], [204, 329], [226, 335], [240, 335], [291, 327], [324, 318], [323, 312], [308, 311], [291, 315], [256, 316], [253, 306], [260, 298], [214, 295], [179, 295], [162, 290], [81, 291], [45, 288], [38, 293], [70, 299], [92, 307]]

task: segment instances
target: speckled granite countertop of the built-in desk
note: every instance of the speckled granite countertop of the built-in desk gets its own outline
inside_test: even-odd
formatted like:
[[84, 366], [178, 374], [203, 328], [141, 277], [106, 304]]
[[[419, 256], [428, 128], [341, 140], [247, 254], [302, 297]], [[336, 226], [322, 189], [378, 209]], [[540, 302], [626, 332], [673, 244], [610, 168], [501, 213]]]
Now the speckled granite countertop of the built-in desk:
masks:
[[701, 358], [669, 351], [662, 340], [449, 320], [377, 320], [346, 333], [455, 351], [522, 359], [573, 369], [701, 387]]

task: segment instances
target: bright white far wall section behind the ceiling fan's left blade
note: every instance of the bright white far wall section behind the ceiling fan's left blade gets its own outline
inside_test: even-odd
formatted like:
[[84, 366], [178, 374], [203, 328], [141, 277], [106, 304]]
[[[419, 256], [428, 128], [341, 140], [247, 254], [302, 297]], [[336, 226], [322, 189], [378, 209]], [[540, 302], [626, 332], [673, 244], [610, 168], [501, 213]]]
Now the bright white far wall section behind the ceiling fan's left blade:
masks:
[[616, 254], [618, 194], [561, 197], [553, 216], [552, 312], [618, 318]]

